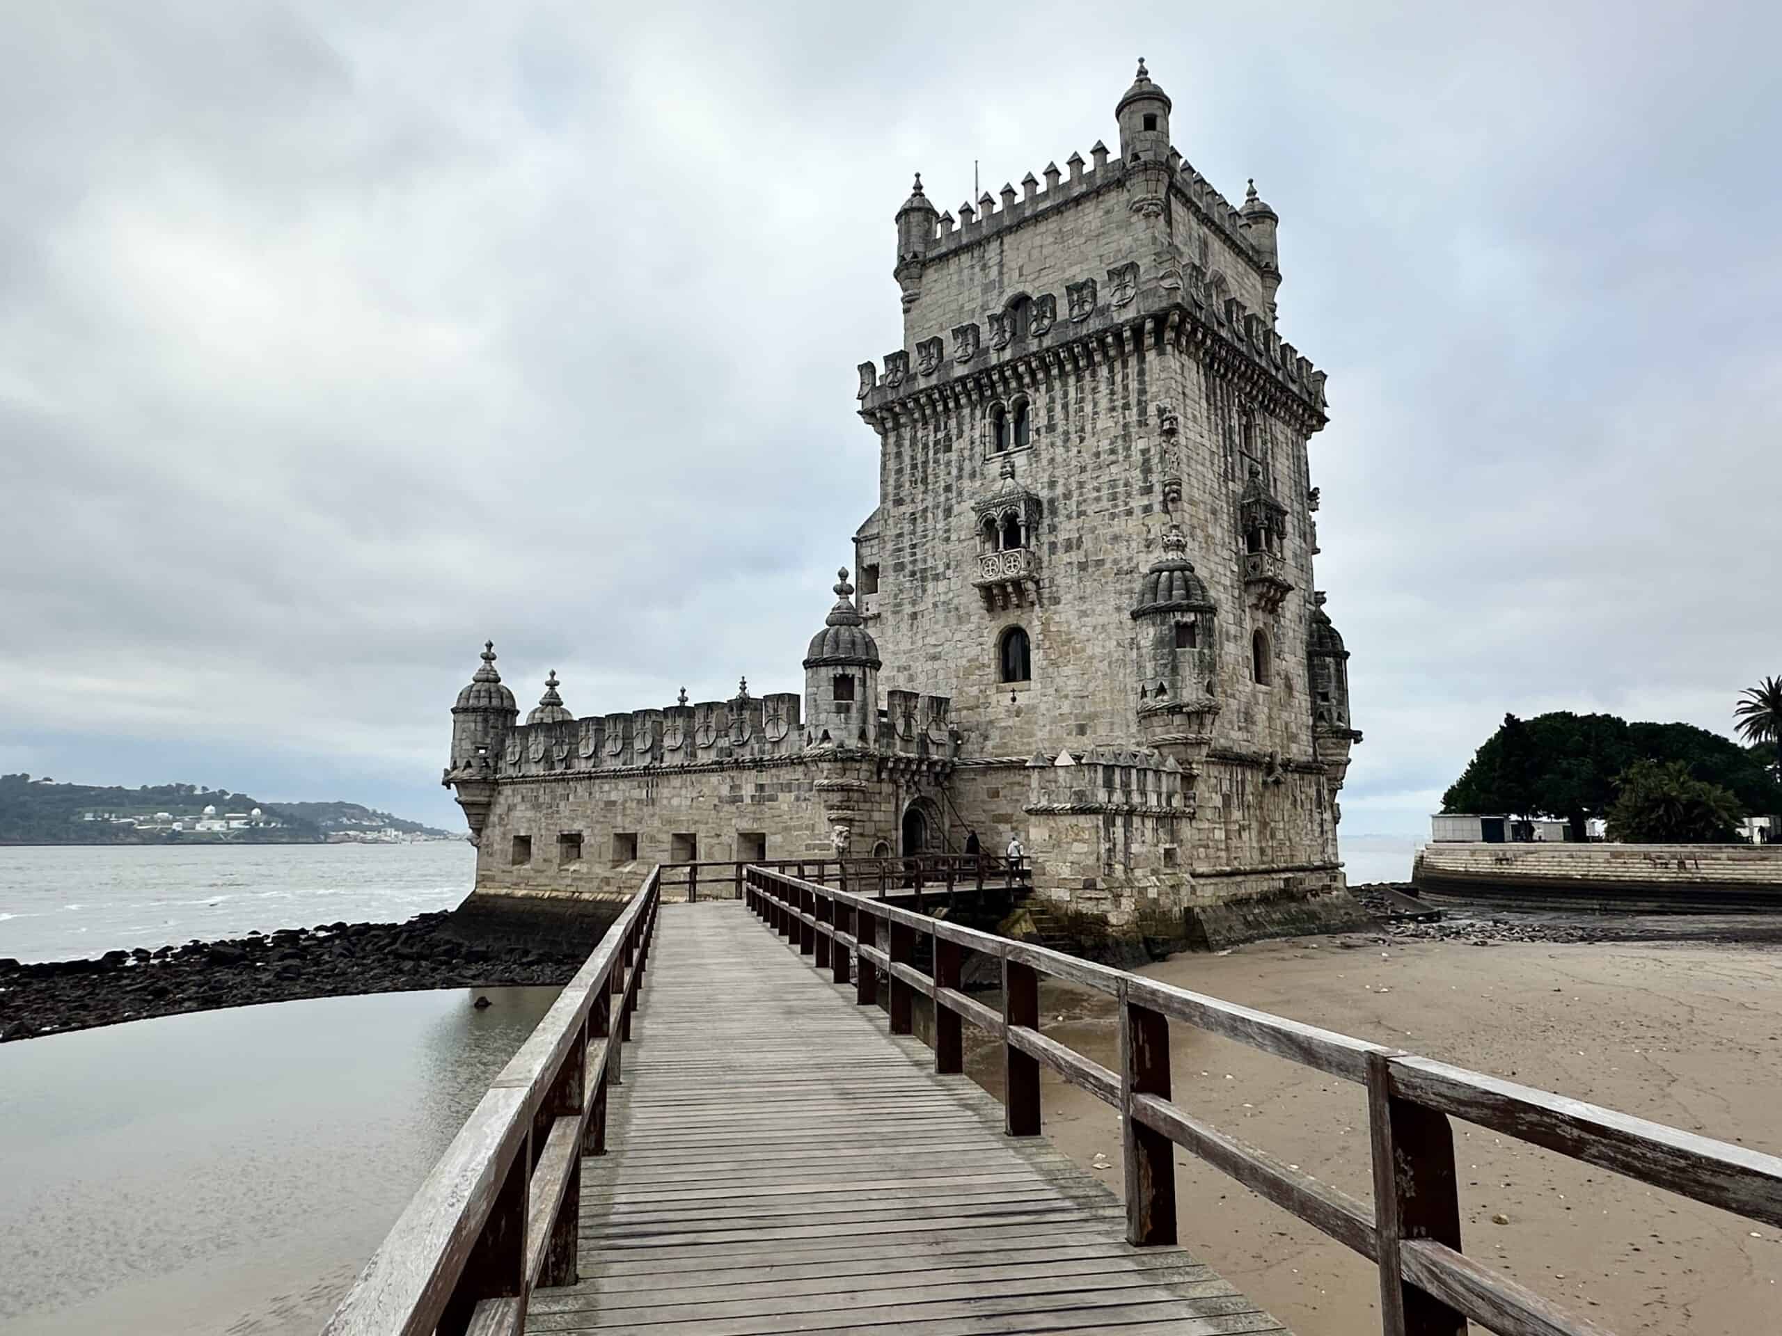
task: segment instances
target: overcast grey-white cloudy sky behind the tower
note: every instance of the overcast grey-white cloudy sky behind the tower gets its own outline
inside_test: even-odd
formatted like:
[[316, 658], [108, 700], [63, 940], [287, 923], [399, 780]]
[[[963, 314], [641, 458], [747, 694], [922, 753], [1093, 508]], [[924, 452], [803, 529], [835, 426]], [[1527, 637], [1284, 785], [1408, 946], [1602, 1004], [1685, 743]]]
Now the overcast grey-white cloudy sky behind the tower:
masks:
[[[1130, 18], [1128, 18], [1130, 16]], [[0, 5], [0, 770], [437, 784], [485, 636], [577, 714], [798, 689], [875, 504], [891, 216], [1114, 139], [1281, 216], [1319, 584], [1426, 834], [1506, 709], [1782, 672], [1778, 7]]]

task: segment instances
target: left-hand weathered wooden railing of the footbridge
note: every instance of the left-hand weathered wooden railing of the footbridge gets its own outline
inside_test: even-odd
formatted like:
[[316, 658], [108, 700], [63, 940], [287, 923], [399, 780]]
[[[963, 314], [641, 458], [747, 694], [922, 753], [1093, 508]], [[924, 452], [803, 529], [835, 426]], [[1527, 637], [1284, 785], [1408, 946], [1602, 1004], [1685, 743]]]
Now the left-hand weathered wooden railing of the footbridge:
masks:
[[661, 903], [658, 871], [501, 1069], [323, 1336], [519, 1332], [535, 1284], [574, 1284], [581, 1158], [606, 1154]]

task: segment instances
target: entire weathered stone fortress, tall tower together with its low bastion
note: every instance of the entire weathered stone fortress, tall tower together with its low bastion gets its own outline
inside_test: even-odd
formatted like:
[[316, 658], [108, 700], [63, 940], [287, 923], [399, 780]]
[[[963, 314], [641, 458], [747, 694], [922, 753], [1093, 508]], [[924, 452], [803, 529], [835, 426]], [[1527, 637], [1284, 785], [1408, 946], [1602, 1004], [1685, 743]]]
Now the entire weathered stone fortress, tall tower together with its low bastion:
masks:
[[[1116, 121], [1119, 155], [1096, 141], [957, 219], [914, 180], [902, 347], [859, 363], [880, 445], [861, 591], [841, 570], [802, 693], [577, 721], [552, 675], [549, 718], [517, 725], [485, 647], [446, 770], [479, 892], [599, 898], [688, 850], [966, 832], [1018, 835], [1041, 894], [1119, 932], [1342, 885], [1360, 734], [1308, 593], [1324, 372], [1276, 330], [1255, 183], [1233, 208], [1181, 157], [1142, 66]], [[593, 857], [549, 864], [560, 846]]]

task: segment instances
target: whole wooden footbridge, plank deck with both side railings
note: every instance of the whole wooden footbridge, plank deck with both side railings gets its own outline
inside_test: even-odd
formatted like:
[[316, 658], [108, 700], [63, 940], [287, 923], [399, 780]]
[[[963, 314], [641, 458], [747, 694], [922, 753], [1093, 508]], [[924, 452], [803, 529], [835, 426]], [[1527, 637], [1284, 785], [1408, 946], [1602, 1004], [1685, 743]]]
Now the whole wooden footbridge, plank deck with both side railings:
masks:
[[[1777, 1156], [779, 869], [665, 908], [659, 871], [326, 1336], [1283, 1331], [1176, 1247], [1178, 1147], [1376, 1261], [1386, 1336], [1604, 1336], [1461, 1250], [1451, 1117], [1782, 1227]], [[968, 953], [1000, 1006], [962, 990]], [[1041, 1033], [1042, 976], [1117, 999], [1119, 1071]], [[1174, 1103], [1173, 1021], [1363, 1085], [1372, 1201]], [[1001, 1104], [960, 1074], [966, 1024], [1001, 1049]], [[1039, 1136], [1041, 1065], [1119, 1112], [1121, 1195]]]

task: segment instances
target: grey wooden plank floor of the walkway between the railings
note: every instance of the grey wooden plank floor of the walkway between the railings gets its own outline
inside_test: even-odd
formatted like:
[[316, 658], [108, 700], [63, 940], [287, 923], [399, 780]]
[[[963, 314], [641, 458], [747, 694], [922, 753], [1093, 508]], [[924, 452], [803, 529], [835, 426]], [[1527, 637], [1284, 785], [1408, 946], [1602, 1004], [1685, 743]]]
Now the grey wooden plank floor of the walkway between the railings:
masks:
[[527, 1332], [1279, 1332], [743, 905], [661, 910], [583, 1160], [581, 1281]]

